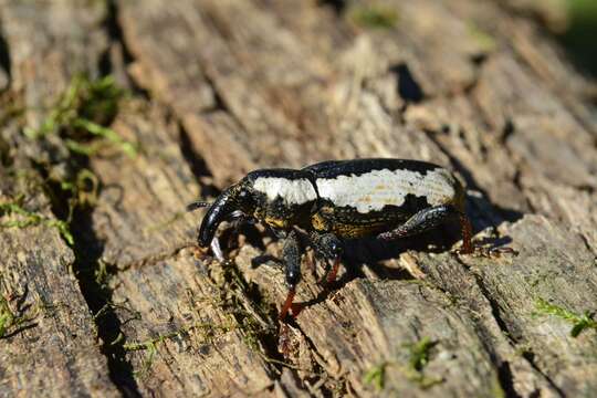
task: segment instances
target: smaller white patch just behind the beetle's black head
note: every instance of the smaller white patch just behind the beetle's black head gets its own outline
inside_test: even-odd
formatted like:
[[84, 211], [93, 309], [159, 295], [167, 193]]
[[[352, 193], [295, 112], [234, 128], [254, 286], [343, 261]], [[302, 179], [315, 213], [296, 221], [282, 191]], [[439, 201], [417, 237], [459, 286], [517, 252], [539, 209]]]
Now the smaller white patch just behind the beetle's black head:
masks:
[[317, 199], [315, 188], [306, 178], [259, 177], [253, 188], [265, 193], [269, 200], [281, 197], [289, 205], [303, 205]]

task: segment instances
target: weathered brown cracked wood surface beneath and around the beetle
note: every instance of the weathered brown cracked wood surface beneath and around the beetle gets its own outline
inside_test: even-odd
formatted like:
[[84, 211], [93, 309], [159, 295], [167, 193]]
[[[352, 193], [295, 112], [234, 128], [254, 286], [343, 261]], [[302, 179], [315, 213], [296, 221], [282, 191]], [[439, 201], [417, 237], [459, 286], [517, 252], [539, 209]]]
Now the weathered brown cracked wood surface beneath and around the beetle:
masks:
[[[76, 73], [130, 87], [111, 127], [139, 150], [87, 159], [101, 187], [72, 248], [55, 228], [1, 230], [1, 293], [52, 308], [0, 339], [1, 396], [597, 394], [597, 331], [572, 337], [537, 308], [597, 311], [595, 83], [533, 21], [476, 0], [379, 2], [385, 28], [358, 1], [51, 4], [2, 1], [6, 94], [24, 117], [3, 121], [1, 199], [63, 217], [11, 176], [60, 165], [21, 130]], [[476, 238], [520, 255], [454, 256], [451, 228], [358, 243], [334, 292], [305, 268], [283, 358], [281, 242], [245, 228], [224, 239], [230, 261], [198, 256], [185, 205], [258, 167], [369, 156], [454, 169]]]

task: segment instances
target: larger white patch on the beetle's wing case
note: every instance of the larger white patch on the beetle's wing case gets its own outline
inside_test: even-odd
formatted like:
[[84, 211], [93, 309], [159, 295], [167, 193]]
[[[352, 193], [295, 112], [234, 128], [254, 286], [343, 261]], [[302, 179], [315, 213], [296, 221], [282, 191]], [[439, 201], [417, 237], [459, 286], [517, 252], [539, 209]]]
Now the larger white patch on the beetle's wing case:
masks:
[[316, 185], [323, 199], [367, 213], [381, 210], [384, 206], [401, 206], [409, 193], [425, 197], [430, 206], [444, 205], [454, 198], [457, 181], [443, 168], [429, 170], [425, 175], [405, 169], [383, 169], [360, 176], [318, 178]]

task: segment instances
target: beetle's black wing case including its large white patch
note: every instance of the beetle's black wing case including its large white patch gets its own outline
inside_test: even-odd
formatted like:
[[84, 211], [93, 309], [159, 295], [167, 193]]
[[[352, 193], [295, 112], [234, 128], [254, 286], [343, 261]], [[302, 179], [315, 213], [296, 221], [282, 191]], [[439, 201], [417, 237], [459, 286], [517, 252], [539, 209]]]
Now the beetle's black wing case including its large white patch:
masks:
[[[370, 213], [385, 207], [431, 207], [451, 203], [460, 185], [448, 170], [423, 161], [360, 159], [313, 165], [321, 199], [335, 207]], [[411, 199], [410, 199], [411, 198]]]

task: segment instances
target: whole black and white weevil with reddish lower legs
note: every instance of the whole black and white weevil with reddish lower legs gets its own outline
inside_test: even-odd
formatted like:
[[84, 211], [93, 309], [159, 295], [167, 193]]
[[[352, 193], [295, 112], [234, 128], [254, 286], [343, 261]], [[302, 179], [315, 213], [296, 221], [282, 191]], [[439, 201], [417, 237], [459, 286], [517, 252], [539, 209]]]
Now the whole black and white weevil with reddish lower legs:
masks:
[[458, 217], [462, 228], [460, 253], [471, 253], [471, 226], [464, 213], [464, 189], [447, 169], [418, 160], [357, 159], [323, 161], [303, 169], [260, 169], [226, 189], [213, 203], [195, 202], [189, 210], [209, 206], [198, 243], [211, 244], [222, 221], [249, 217], [285, 231], [282, 250], [289, 295], [284, 318], [301, 280], [300, 231], [333, 268], [336, 277], [343, 239], [408, 237]]

